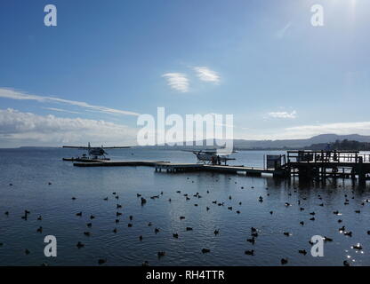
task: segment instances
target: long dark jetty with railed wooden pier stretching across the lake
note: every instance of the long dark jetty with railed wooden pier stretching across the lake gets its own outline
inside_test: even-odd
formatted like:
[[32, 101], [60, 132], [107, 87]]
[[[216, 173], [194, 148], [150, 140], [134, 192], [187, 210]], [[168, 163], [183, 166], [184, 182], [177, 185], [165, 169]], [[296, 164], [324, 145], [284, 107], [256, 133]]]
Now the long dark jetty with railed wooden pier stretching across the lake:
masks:
[[286, 154], [266, 155], [262, 168], [165, 161], [86, 160], [73, 160], [75, 162], [73, 165], [76, 167], [149, 166], [154, 167], [157, 172], [164, 170], [169, 173], [213, 171], [245, 173], [250, 176], [271, 174], [273, 177], [299, 177], [300, 180], [318, 180], [323, 183], [326, 182], [327, 177], [353, 180], [358, 178], [360, 185], [366, 185], [366, 179], [370, 179], [370, 154], [359, 154], [358, 151], [287, 151]]

